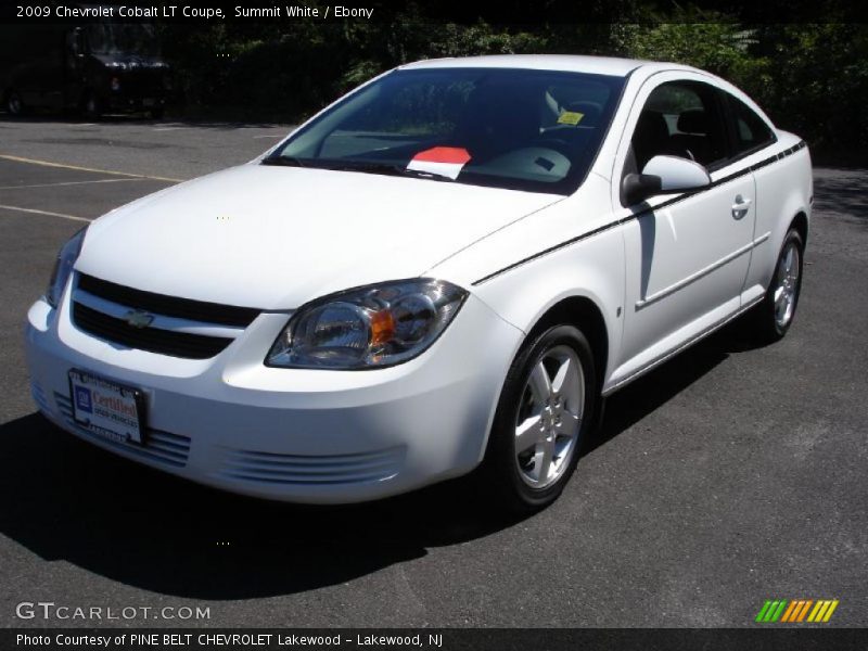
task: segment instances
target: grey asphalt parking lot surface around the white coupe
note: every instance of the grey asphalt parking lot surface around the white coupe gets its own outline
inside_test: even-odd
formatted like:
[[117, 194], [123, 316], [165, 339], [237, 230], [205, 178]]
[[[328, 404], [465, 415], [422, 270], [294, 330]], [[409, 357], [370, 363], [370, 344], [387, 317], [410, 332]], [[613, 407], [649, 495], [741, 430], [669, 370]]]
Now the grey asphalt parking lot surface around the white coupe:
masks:
[[[257, 501], [48, 424], [22, 331], [63, 241], [288, 129], [0, 119], [0, 626], [740, 627], [767, 599], [838, 599], [826, 626], [868, 626], [864, 170], [815, 170], [787, 339], [728, 328], [616, 394], [562, 498], [524, 520], [467, 481], [367, 506]], [[16, 616], [39, 601], [209, 617]]]

